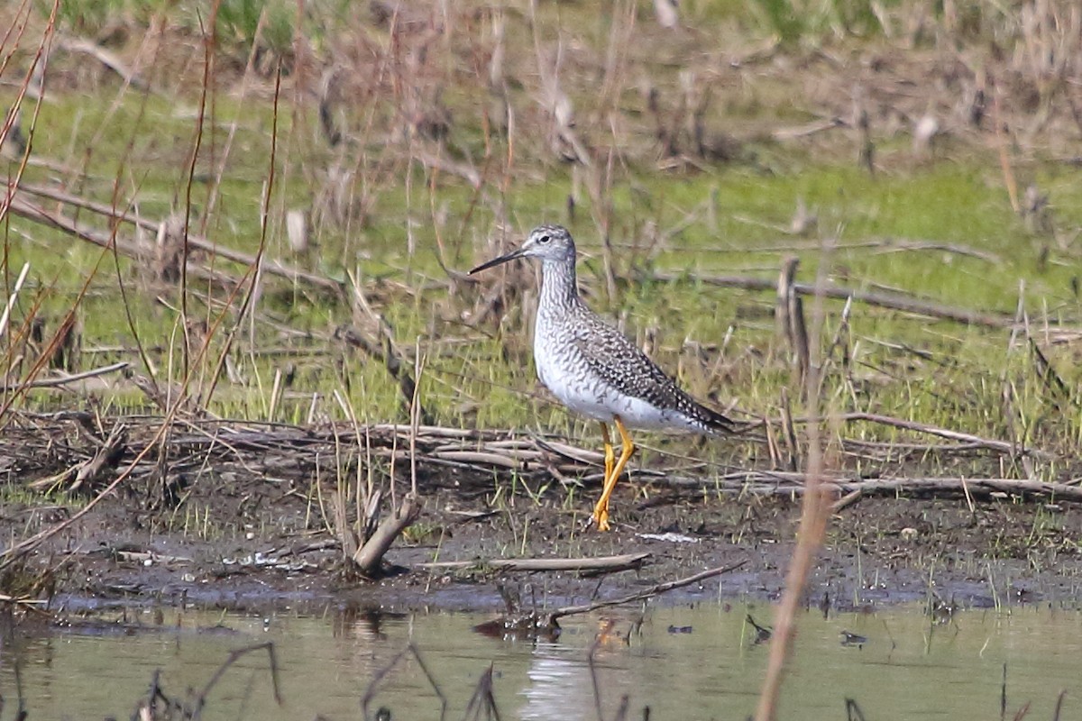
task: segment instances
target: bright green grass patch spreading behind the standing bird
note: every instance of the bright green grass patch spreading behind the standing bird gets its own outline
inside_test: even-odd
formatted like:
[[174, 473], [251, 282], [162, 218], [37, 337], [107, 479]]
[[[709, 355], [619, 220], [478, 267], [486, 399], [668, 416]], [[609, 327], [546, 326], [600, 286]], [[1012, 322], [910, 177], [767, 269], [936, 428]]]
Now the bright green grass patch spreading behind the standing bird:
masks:
[[[233, 24], [230, 37], [238, 42], [254, 32], [258, 14], [253, 15], [249, 4], [227, 3], [227, 12], [220, 15], [220, 22]], [[846, 5], [849, 10], [835, 5], [835, 14], [862, 8], [860, 3]], [[71, 13], [78, 10], [70, 9]], [[739, 10], [730, 3], [692, 3], [687, 10], [690, 16], [718, 23], [725, 34], [734, 31], [735, 22], [748, 19], [741, 16], [735, 21]], [[560, 8], [558, 14], [541, 18], [546, 31], [563, 28], [564, 32], [578, 32], [581, 41], [593, 43], [592, 48], [604, 48], [608, 42], [611, 18], [594, 17], [577, 27], [575, 9]], [[273, 23], [287, 22], [285, 16], [276, 17]], [[65, 22], [77, 27], [97, 21], [72, 15]], [[268, 31], [281, 36], [282, 27], [276, 25]], [[512, 40], [524, 40], [522, 26], [512, 27], [519, 34]], [[478, 43], [487, 41], [477, 28], [461, 31], [475, 34], [471, 37]], [[320, 37], [327, 40], [327, 36]], [[372, 38], [373, 43], [385, 41], [379, 34]], [[531, 48], [532, 42], [518, 45]], [[632, 61], [639, 62], [637, 57]], [[604, 122], [591, 115], [595, 109], [589, 103], [589, 83], [576, 78], [578, 70], [582, 77], [596, 79], [589, 72], [599, 70], [572, 55], [568, 63], [575, 62], [583, 62], [586, 68], [570, 65], [567, 69], [568, 92], [584, 118], [579, 129], [596, 143], [615, 142], [605, 137]], [[60, 71], [71, 72], [63, 59], [57, 63]], [[536, 70], [531, 63], [530, 53], [509, 61], [509, 74], [517, 74], [522, 83], [530, 82]], [[551, 157], [544, 139], [546, 125], [536, 117], [537, 99], [529, 88], [515, 85], [512, 91], [522, 129], [515, 164], [503, 165], [509, 153], [506, 141], [498, 135], [486, 138], [481, 132], [475, 106], [485, 102], [486, 91], [483, 82], [464, 69], [466, 66], [465, 61], [448, 61], [446, 66], [431, 67], [430, 72], [447, 81], [450, 90], [445, 99], [454, 104], [446, 157], [469, 153], [479, 165], [479, 153], [485, 152], [486, 142], [490, 144], [494, 171], [487, 176], [481, 196], [453, 174], [434, 176], [401, 153], [385, 151], [383, 138], [392, 134], [397, 117], [390, 105], [395, 101], [393, 95], [379, 96], [372, 106], [373, 132], [365, 130], [361, 122], [369, 117], [369, 106], [351, 106], [357, 124], [349, 144], [345, 149], [331, 149], [319, 137], [313, 105], [304, 102], [294, 106], [291, 95], [283, 93], [275, 146], [267, 84], [240, 99], [233, 92], [236, 83], [223, 83], [211, 98], [213, 116], [207, 119], [190, 188], [188, 158], [196, 137], [196, 93], [173, 101], [156, 93], [141, 96], [128, 92], [116, 105], [111, 85], [97, 93], [51, 94], [42, 105], [34, 148], [39, 157], [85, 170], [85, 178], [75, 174], [65, 178], [70, 192], [98, 202], [111, 202], [116, 196], [121, 205], [135, 199], [144, 217], [162, 218], [183, 210], [190, 195], [192, 227], [198, 231], [201, 215], [213, 201], [207, 235], [222, 245], [252, 253], [260, 246], [259, 211], [274, 147], [267, 256], [335, 279], [344, 280], [351, 273], [359, 278], [377, 310], [394, 329], [405, 360], [412, 361], [413, 346], [420, 344], [425, 357], [421, 400], [441, 424], [571, 436], [596, 433], [593, 425], [569, 416], [535, 392], [530, 331], [523, 305], [524, 298], [536, 297], [532, 276], [523, 276], [526, 281], [516, 288], [522, 293], [509, 295], [510, 305], [498, 325], [488, 322], [471, 328], [464, 319], [476, 307], [481, 289], [496, 282], [502, 271], [483, 276], [479, 285], [449, 282], [437, 263], [434, 215], [444, 218], [438, 231], [446, 261], [460, 271], [484, 259], [485, 239], [496, 235], [501, 224], [510, 228], [513, 238], [541, 221], [569, 225], [583, 256], [580, 281], [592, 306], [615, 322], [624, 322], [637, 342], [649, 332], [655, 338], [655, 358], [696, 395], [716, 404], [734, 404], [753, 417], [777, 417], [781, 390], [790, 383], [784, 362], [788, 350], [775, 334], [773, 294], [718, 288], [705, 279], [721, 275], [774, 279], [782, 258], [790, 254], [800, 256], [799, 279], [804, 282], [813, 282], [821, 271], [840, 285], [868, 291], [898, 289], [961, 308], [1013, 313], [1020, 292], [1034, 319], [1034, 337], [1053, 368], [1077, 392], [1080, 376], [1071, 345], [1052, 343], [1040, 335], [1045, 312], [1051, 324], [1076, 323], [1080, 316], [1072, 291], [1072, 283], [1078, 282], [1077, 252], [1064, 239], [1082, 225], [1082, 209], [1072, 201], [1077, 174], [1063, 163], [1043, 161], [1041, 152], [1034, 152], [1015, 169], [1022, 188], [1026, 179], [1032, 178], [1050, 195], [1061, 229], [1058, 238], [1027, 229], [1011, 209], [998, 157], [979, 144], [951, 146], [949, 155], [916, 162], [910, 158], [907, 142], [880, 137], [879, 170], [869, 175], [853, 163], [848, 142], [805, 147], [765, 139], [765, 134], [755, 131], [744, 137], [750, 151], [744, 162], [707, 166], [702, 172], [662, 172], [648, 144], [643, 144], [642, 151], [635, 149], [634, 144], [649, 137], [650, 131], [641, 108], [623, 107], [639, 102], [625, 79], [626, 86], [613, 96], [619, 98], [617, 109], [623, 112], [620, 119], [626, 124], [620, 137], [633, 142], [621, 148], [624, 156], [606, 196], [611, 204], [606, 211], [593, 208], [583, 183], [572, 182], [569, 168]], [[647, 65], [644, 71], [652, 74], [662, 84], [663, 96], [671, 101], [676, 95], [678, 70], [662, 63]], [[792, 86], [787, 89], [777, 77], [747, 84], [729, 92], [715, 91], [720, 122], [748, 128], [779, 119], [804, 122], [814, 117], [792, 97]], [[236, 134], [216, 184], [233, 122], [237, 123]], [[325, 190], [326, 169], [337, 152], [342, 153], [344, 168], [357, 170], [358, 191], [364, 188], [374, 199], [371, 212], [345, 226], [314, 223], [317, 248], [307, 256], [298, 256], [285, 236], [285, 211], [308, 209], [317, 202]], [[15, 164], [9, 163], [8, 171], [13, 174]], [[502, 173], [509, 176], [505, 185]], [[55, 178], [55, 170], [37, 166], [24, 176], [25, 182], [39, 184]], [[569, 193], [576, 195], [573, 219], [567, 215]], [[716, 198], [716, 205], [711, 209], [712, 198]], [[813, 238], [791, 237], [779, 229], [789, 224], [799, 202], [818, 215], [819, 233]], [[612, 263], [620, 279], [613, 297], [606, 290], [605, 251], [593, 219], [606, 212], [616, 249]], [[80, 218], [94, 224], [90, 214]], [[407, 246], [407, 227], [413, 253]], [[654, 244], [651, 238], [658, 232], [668, 233], [676, 227], [681, 228], [677, 232]], [[123, 232], [129, 231], [123, 228]], [[836, 248], [823, 252], [816, 237], [833, 238]], [[37, 316], [44, 320], [48, 337], [90, 277], [89, 290], [77, 308], [82, 324], [82, 365], [102, 365], [116, 359], [141, 365], [133, 352], [137, 337], [159, 377], [181, 379], [183, 351], [175, 284], [148, 279], [142, 272], [145, 262], [121, 257], [115, 267], [111, 255], [101, 249], [23, 218], [9, 218], [4, 239], [3, 273], [9, 286], [23, 263], [32, 268], [31, 282], [15, 309], [16, 328]], [[998, 261], [942, 250], [903, 250], [888, 245], [889, 239], [955, 244], [992, 254]], [[869, 246], [881, 241], [876, 248]], [[228, 263], [219, 267], [235, 276], [245, 270]], [[675, 273], [677, 280], [650, 280], [655, 272]], [[122, 312], [120, 281], [128, 289], [131, 325]], [[225, 335], [236, 324], [233, 311], [220, 318], [220, 304], [227, 294], [217, 289], [209, 297], [213, 298], [210, 305], [208, 289], [190, 282], [189, 319], [208, 326], [221, 320], [208, 353], [194, 362], [194, 377], [201, 387], [209, 384]], [[813, 299], [805, 301], [809, 313], [814, 306]], [[841, 308], [840, 302], [823, 304], [820, 343], [829, 344], [837, 333]], [[407, 419], [399, 391], [385, 369], [327, 339], [334, 328], [355, 322], [348, 302], [265, 277], [255, 311], [254, 335], [246, 320], [229, 350], [246, 380], [219, 379], [210, 411], [228, 417], [267, 417], [275, 371], [291, 365], [294, 379], [288, 390], [292, 395], [282, 401], [276, 419], [305, 422], [313, 393], [322, 399], [318, 404], [321, 412], [341, 419], [343, 414], [332, 400], [335, 391], [343, 393], [361, 422]], [[286, 335], [283, 328], [308, 332], [313, 337]], [[697, 353], [685, 347], [686, 341], [704, 350]], [[1068, 448], [1082, 437], [1082, 412], [1077, 402], [1054, 402], [1025, 344], [1008, 350], [1006, 331], [932, 321], [858, 303], [842, 342], [852, 362], [843, 366], [835, 356], [826, 369], [823, 398], [832, 411], [870, 411], [1052, 448]], [[88, 352], [101, 348], [124, 350]], [[0, 350], [6, 352], [8, 347]], [[16, 376], [28, 368], [29, 362], [24, 362], [15, 369]], [[138, 372], [148, 370], [138, 368]], [[1003, 401], [1005, 385], [1014, 388], [1010, 408]], [[794, 413], [802, 415], [799, 391], [790, 395]], [[71, 402], [67, 397], [36, 392], [22, 403], [40, 409]], [[131, 389], [106, 395], [100, 402], [110, 412], [147, 408], [142, 395]], [[868, 424], [849, 425], [845, 435], [880, 441], [907, 438], [897, 430]], [[687, 448], [655, 439], [647, 445], [677, 451]], [[740, 460], [757, 451], [710, 446], [702, 453], [708, 459]], [[649, 454], [647, 449], [647, 458]], [[852, 463], [858, 469], [866, 464], [860, 459]], [[1045, 470], [1055, 473], [1061, 469], [1048, 466]]]

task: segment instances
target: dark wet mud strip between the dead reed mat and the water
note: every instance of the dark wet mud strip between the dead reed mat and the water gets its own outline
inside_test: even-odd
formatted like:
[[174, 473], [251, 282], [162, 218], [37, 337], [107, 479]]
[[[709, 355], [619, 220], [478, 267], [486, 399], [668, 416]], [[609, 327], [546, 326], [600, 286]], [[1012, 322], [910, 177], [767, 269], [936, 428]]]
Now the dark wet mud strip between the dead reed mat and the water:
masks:
[[[53, 607], [72, 612], [183, 602], [249, 610], [496, 610], [504, 603], [501, 588], [527, 610], [552, 610], [740, 562], [660, 602], [769, 601], [781, 593], [797, 498], [704, 500], [701, 491], [633, 479], [617, 488], [613, 530], [598, 533], [583, 528], [596, 489], [588, 483], [568, 503], [566, 491], [554, 485], [539, 498], [504, 496], [496, 507], [491, 473], [426, 480], [421, 519], [386, 556], [394, 568], [382, 579], [365, 580], [344, 573], [341, 547], [318, 507], [295, 489], [260, 478], [204, 477], [185, 489], [180, 507], [155, 509], [147, 489], [133, 481], [26, 557], [22, 571], [30, 576], [53, 569], [45, 595]], [[77, 507], [9, 503], [3, 535], [25, 537]], [[169, 518], [171, 531], [164, 530]], [[1037, 498], [977, 498], [971, 510], [964, 496], [865, 497], [834, 516], [807, 603], [839, 610], [926, 599], [962, 606], [1074, 605], [1082, 593], [1080, 528], [1082, 509]], [[635, 551], [650, 555], [639, 568], [601, 575], [421, 565]]]

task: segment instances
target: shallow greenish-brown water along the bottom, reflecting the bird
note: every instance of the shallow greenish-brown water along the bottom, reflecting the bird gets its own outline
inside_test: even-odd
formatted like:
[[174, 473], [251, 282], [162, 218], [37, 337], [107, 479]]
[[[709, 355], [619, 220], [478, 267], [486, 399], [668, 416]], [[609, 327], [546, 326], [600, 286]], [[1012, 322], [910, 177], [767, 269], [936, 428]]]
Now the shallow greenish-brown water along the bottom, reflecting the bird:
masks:
[[[267, 654], [260, 652], [224, 673], [207, 697], [204, 718], [357, 719], [371, 689], [373, 716], [382, 706], [393, 719], [438, 719], [436, 692], [411, 656], [372, 686], [412, 641], [447, 698], [447, 719], [465, 718], [490, 664], [503, 719], [592, 720], [598, 703], [604, 718], [612, 719], [624, 695], [629, 719], [644, 718], [646, 706], [655, 720], [744, 719], [754, 710], [767, 657], [765, 644], [751, 642], [747, 612], [743, 605], [652, 609], [642, 624], [635, 613], [578, 616], [565, 619], [555, 641], [524, 642], [475, 632], [489, 615], [338, 610], [322, 617], [263, 617], [166, 610], [158, 630], [6, 636], [0, 718], [14, 718], [18, 703], [30, 719], [128, 718], [155, 669], [170, 697], [190, 698], [188, 689], [202, 689], [230, 651], [274, 641], [282, 706], [274, 703]], [[766, 606], [751, 613], [769, 620]], [[595, 649], [595, 687], [589, 653], [607, 618], [615, 625]], [[148, 612], [135, 620], [150, 625], [156, 618]], [[846, 646], [843, 631], [867, 643]], [[1061, 718], [1078, 718], [1080, 657], [1077, 612], [972, 611], [940, 625], [918, 607], [826, 619], [808, 612], [800, 619], [780, 718], [845, 719], [846, 698], [875, 721], [1000, 718], [1004, 664], [1006, 718], [1030, 704], [1027, 718], [1052, 719], [1061, 690], [1070, 694]]]

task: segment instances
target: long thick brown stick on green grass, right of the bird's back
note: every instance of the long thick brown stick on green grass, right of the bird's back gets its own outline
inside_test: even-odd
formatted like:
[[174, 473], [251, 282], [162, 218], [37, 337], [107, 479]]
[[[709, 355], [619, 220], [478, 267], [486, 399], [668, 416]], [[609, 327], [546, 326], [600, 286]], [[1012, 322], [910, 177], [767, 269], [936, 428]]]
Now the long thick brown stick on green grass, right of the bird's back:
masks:
[[[650, 280], [660, 282], [676, 282], [684, 280], [685, 278], [686, 273], [676, 272], [655, 272], [650, 276]], [[778, 286], [775, 281], [767, 280], [766, 278], [753, 278], [750, 276], [696, 275], [695, 279], [696, 281], [707, 283], [708, 285], [739, 288], [745, 291], [774, 291], [777, 290]], [[809, 285], [807, 283], [793, 283], [793, 290], [801, 295], [814, 295], [816, 293], [815, 285]], [[932, 318], [942, 318], [945, 320], [953, 320], [960, 323], [969, 323], [972, 325], [1010, 328], [1014, 324], [1013, 316], [971, 310], [968, 308], [958, 308], [954, 306], [933, 303], [932, 301], [924, 301], [922, 298], [901, 295], [899, 293], [873, 293], [855, 288], [841, 288], [834, 285], [828, 285], [821, 289], [821, 293], [828, 298], [844, 301], [852, 297], [854, 301], [867, 303], [868, 305], [878, 306], [880, 308], [913, 312]]]

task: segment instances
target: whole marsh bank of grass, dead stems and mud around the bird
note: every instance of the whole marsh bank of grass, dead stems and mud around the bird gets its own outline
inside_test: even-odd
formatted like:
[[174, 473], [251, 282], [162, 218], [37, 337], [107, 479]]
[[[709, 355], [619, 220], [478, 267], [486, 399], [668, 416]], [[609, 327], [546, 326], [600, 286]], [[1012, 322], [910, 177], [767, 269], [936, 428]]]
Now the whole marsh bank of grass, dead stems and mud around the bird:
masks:
[[[0, 16], [5, 602], [221, 575], [322, 598], [396, 539], [406, 596], [461, 578], [421, 563], [643, 548], [655, 576], [744, 559], [731, 590], [774, 596], [809, 467], [834, 603], [880, 572], [906, 599], [1072, 592], [1072, 3]], [[540, 222], [744, 428], [648, 439], [608, 536], [580, 529], [596, 429], [535, 380], [535, 270], [465, 273]], [[669, 532], [701, 543], [636, 537]]]

